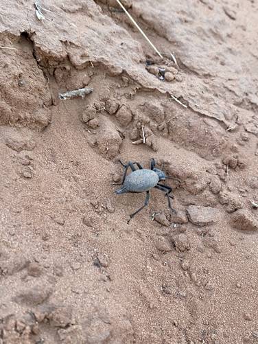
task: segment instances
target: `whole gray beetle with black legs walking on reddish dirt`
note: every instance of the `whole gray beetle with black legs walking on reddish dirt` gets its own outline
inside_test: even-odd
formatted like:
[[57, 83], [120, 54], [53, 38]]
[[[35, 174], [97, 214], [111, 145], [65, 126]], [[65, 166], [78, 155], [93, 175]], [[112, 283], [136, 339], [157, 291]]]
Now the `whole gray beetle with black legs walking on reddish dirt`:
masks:
[[[165, 196], [167, 196], [169, 209], [176, 213], [176, 211], [172, 208], [170, 201], [170, 198], [173, 198], [173, 196], [170, 195], [170, 193], [172, 192], [172, 187], [159, 183], [160, 181], [165, 181], [165, 179], [169, 177], [167, 177], [162, 170], [159, 170], [159, 168], [155, 168], [156, 163], [154, 159], [151, 159], [150, 169], [143, 168], [141, 164], [137, 162], [132, 163], [131, 161], [129, 161], [125, 165], [121, 162], [121, 160], [119, 160], [119, 163], [121, 163], [121, 165], [124, 166], [124, 176], [121, 184], [115, 184], [122, 185], [120, 189], [115, 190], [115, 193], [125, 194], [127, 192], [146, 192], [144, 205], [137, 211], [134, 211], [133, 214], [130, 214], [130, 219], [128, 220], [128, 223], [134, 217], [134, 215], [138, 214], [139, 211], [141, 211], [144, 207], [146, 207], [149, 204], [150, 190], [152, 189], [152, 187], [156, 187], [156, 189], [165, 192]], [[134, 165], [137, 165], [139, 170], [137, 170], [134, 167]], [[128, 168], [130, 168], [132, 172], [126, 175]]]

